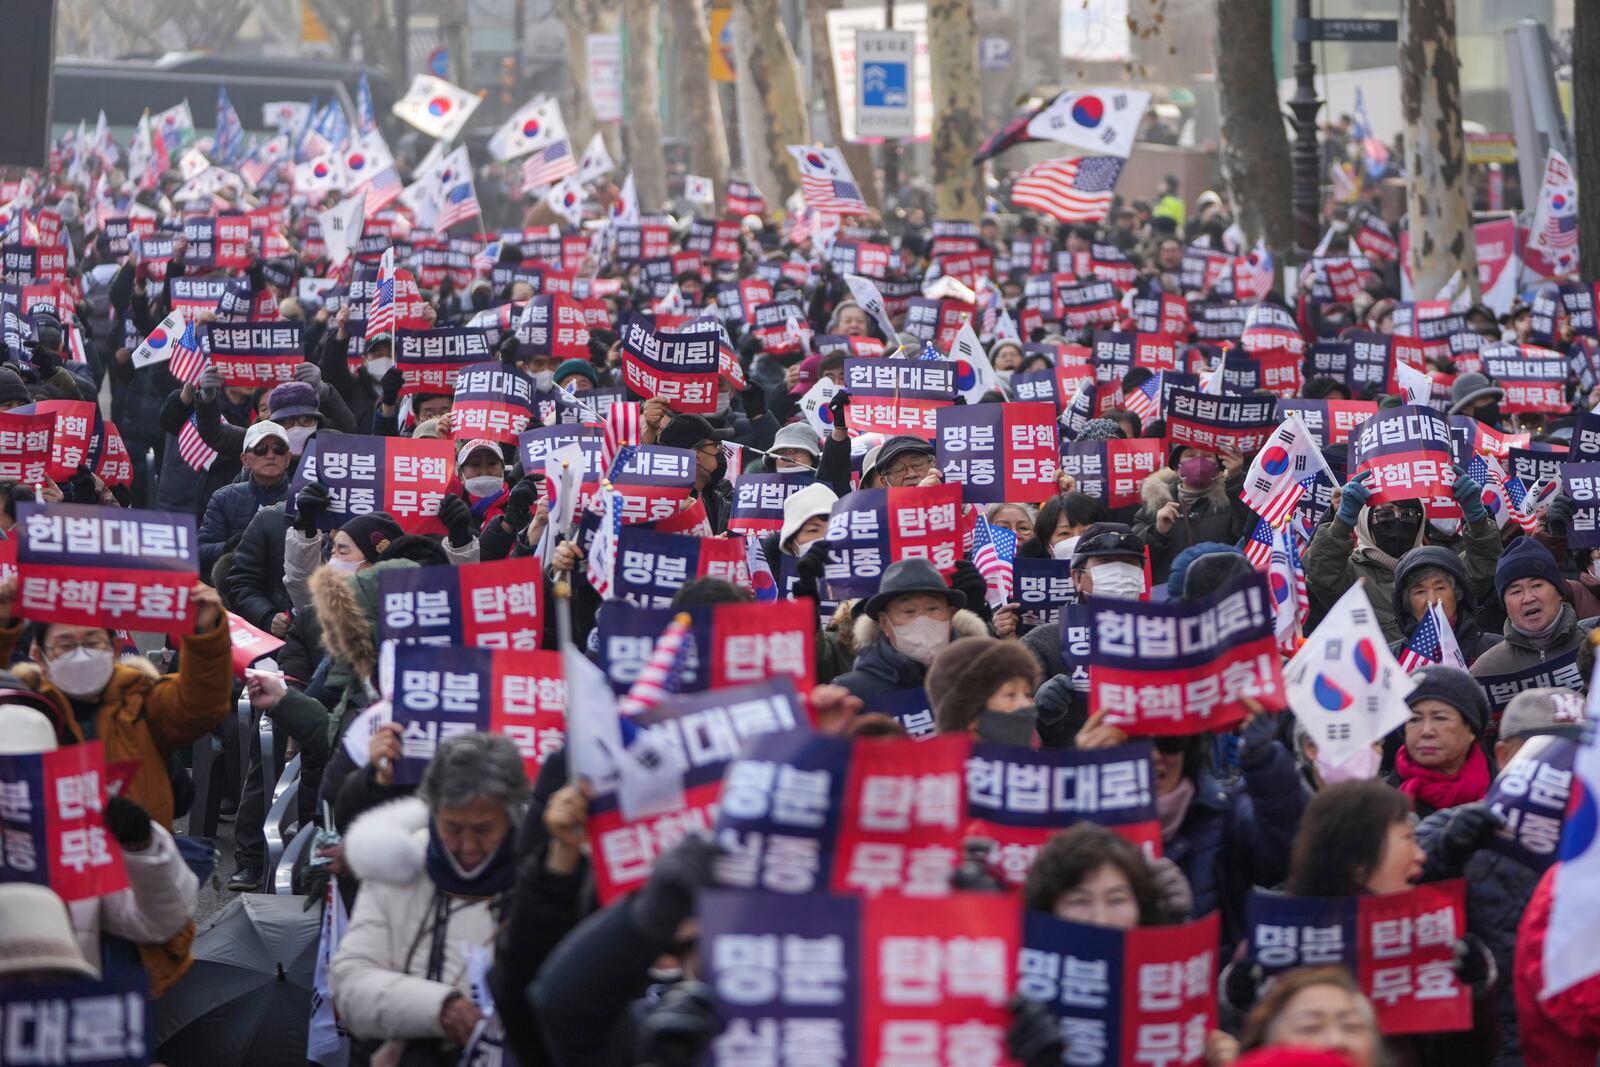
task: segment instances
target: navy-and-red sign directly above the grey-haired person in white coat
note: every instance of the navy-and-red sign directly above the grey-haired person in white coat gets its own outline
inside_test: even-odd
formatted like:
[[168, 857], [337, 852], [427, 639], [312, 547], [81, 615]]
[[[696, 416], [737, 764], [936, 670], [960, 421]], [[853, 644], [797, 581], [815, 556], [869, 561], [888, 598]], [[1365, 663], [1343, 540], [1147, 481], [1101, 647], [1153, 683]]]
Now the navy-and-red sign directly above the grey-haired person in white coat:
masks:
[[522, 753], [530, 781], [562, 747], [566, 675], [562, 654], [453, 648], [446, 662], [426, 646], [394, 649], [392, 721], [400, 725], [395, 782], [422, 781], [438, 745], [461, 733], [506, 734]]

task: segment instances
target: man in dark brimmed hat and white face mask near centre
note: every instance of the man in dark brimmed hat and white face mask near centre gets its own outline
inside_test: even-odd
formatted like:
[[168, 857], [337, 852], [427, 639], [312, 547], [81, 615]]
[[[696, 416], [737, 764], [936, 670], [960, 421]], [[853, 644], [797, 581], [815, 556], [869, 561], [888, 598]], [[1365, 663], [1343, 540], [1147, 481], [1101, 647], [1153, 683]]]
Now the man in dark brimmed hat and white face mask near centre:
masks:
[[989, 627], [966, 608], [928, 560], [899, 560], [883, 571], [878, 592], [856, 619], [856, 665], [834, 678], [862, 701], [915, 689], [928, 664], [955, 637], [984, 637]]

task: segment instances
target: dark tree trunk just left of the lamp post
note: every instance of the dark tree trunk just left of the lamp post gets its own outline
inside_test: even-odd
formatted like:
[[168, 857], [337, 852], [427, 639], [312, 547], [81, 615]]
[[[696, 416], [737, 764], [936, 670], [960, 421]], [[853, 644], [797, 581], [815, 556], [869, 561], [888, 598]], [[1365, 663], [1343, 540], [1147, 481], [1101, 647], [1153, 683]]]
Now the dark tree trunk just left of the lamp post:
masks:
[[1294, 246], [1290, 139], [1272, 64], [1272, 0], [1218, 0], [1216, 83], [1222, 110], [1222, 174], [1250, 245]]

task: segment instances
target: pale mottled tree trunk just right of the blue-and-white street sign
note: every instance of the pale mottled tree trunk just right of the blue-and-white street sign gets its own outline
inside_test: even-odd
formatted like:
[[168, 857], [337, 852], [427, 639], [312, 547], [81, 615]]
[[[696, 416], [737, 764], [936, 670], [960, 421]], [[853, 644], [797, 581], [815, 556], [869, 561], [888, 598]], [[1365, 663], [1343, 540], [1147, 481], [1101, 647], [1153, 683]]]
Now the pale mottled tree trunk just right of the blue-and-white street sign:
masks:
[[933, 69], [933, 198], [941, 219], [976, 222], [984, 213], [982, 93], [973, 0], [931, 0], [928, 66]]

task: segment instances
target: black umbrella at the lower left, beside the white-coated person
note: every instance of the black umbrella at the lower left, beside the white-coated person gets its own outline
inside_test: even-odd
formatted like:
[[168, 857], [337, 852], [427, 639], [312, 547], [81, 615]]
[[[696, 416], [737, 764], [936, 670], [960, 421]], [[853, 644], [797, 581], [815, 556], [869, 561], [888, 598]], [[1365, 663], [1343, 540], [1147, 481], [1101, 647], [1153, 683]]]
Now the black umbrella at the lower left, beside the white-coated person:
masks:
[[194, 942], [194, 966], [155, 1001], [165, 1064], [282, 1067], [306, 1061], [322, 909], [246, 893]]

